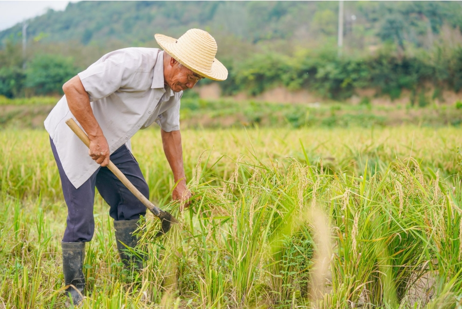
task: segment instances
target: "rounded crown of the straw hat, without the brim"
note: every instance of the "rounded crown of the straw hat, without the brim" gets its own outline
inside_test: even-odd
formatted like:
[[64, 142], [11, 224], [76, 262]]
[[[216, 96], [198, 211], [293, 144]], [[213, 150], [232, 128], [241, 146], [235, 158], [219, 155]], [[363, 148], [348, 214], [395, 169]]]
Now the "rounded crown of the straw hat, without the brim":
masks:
[[[210, 69], [218, 50], [216, 41], [209, 32], [201, 29], [189, 29], [177, 40], [178, 47], [188, 48], [191, 56], [200, 57], [204, 68]], [[193, 58], [195, 58], [193, 56]]]

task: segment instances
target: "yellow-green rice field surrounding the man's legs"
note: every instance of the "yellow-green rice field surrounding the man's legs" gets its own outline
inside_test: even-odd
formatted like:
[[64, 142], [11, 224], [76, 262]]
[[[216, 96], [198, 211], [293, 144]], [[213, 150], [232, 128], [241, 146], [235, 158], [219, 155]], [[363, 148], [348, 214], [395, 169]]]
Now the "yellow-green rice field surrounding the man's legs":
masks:
[[[150, 199], [179, 220], [123, 270], [97, 193], [81, 308], [461, 308], [460, 129], [182, 132], [190, 207], [158, 130], [132, 139]], [[0, 131], [0, 308], [63, 308], [67, 215], [42, 130]]]

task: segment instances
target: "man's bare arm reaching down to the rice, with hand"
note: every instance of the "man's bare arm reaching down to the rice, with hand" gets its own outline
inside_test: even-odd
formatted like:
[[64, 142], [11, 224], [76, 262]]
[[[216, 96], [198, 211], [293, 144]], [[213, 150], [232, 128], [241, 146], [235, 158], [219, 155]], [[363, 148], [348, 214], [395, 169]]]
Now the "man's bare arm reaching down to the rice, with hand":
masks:
[[163, 152], [167, 157], [167, 161], [169, 161], [175, 183], [178, 182], [173, 190], [172, 198], [186, 201], [191, 197], [191, 192], [186, 186], [186, 176], [184, 175], [181, 133], [179, 130], [166, 132], [160, 129], [160, 135], [162, 137]]

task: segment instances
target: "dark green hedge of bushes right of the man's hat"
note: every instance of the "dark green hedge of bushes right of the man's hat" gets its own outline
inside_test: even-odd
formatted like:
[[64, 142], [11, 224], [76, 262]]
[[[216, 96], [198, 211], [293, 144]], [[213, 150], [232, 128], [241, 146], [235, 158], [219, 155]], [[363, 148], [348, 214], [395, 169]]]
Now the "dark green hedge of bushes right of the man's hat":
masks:
[[[437, 61], [434, 60], [437, 55], [398, 56], [385, 48], [376, 56], [365, 58], [338, 58], [336, 50], [328, 49], [305, 50], [294, 57], [274, 52], [255, 54], [232, 67], [228, 83], [235, 88], [225, 88], [225, 93], [247, 91], [257, 95], [280, 85], [292, 90], [305, 88], [326, 98], [341, 100], [352, 96], [356, 88], [372, 87], [393, 100], [400, 97], [402, 89], [417, 90], [425, 82], [458, 90], [462, 86], [461, 50], [448, 51]], [[428, 105], [420, 92], [419, 106]]]

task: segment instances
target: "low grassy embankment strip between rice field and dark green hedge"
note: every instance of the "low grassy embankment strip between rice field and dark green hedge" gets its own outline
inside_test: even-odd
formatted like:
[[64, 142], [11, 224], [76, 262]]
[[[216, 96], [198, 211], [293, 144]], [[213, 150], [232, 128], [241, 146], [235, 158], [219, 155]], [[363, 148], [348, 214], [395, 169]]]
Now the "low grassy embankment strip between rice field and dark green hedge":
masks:
[[[42, 129], [43, 121], [59, 98], [0, 100], [0, 128]], [[459, 126], [462, 103], [373, 105], [341, 103], [266, 103], [230, 99], [181, 100], [181, 128], [371, 128], [372, 126]]]

